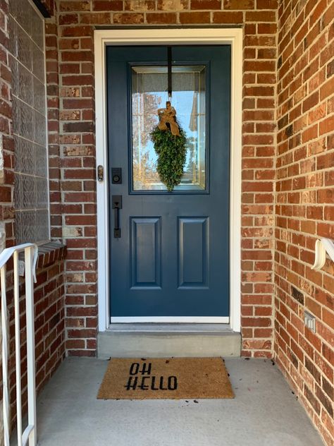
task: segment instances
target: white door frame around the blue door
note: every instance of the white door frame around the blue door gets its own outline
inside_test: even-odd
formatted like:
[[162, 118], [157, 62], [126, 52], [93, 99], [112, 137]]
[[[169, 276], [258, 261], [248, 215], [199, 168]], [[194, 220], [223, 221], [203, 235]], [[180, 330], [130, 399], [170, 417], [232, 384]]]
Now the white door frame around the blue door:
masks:
[[[97, 249], [99, 331], [109, 329], [109, 215], [106, 128], [106, 46], [163, 44], [231, 45], [230, 116], [230, 327], [240, 332], [241, 287], [241, 155], [242, 155], [242, 29], [160, 28], [94, 31], [97, 166], [104, 181], [97, 181]], [[204, 322], [203, 318], [200, 318]], [[206, 318], [214, 322], [214, 318]], [[133, 321], [134, 322], [134, 321]], [[152, 318], [153, 322], [153, 318]], [[177, 322], [177, 320], [174, 320]], [[193, 322], [196, 322], [195, 320]], [[199, 321], [198, 321], [199, 322]]]

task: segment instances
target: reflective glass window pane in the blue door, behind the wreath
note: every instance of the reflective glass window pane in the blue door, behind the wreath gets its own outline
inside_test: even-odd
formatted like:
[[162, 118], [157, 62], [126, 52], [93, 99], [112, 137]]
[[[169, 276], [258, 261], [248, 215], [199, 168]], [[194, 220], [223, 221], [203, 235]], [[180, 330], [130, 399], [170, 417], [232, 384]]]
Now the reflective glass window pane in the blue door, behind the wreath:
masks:
[[[132, 190], [166, 191], [150, 133], [168, 100], [166, 66], [132, 66]], [[183, 178], [174, 191], [206, 189], [206, 68], [173, 66], [172, 105], [187, 135]]]

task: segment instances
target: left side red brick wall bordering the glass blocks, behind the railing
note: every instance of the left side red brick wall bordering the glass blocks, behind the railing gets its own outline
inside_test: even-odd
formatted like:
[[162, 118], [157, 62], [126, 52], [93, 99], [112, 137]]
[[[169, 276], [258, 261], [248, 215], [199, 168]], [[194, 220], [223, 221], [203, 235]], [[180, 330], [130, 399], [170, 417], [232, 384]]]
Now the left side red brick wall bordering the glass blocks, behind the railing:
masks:
[[[11, 122], [11, 85], [8, 52], [8, 0], [0, 2], [0, 224], [4, 224], [5, 243], [1, 248], [16, 244], [14, 239], [14, 141]], [[2, 232], [2, 227], [1, 227]], [[0, 234], [2, 235], [2, 234]], [[1, 251], [1, 249], [0, 249]], [[35, 284], [35, 344], [36, 384], [41, 390], [65, 356], [65, 311], [64, 311], [64, 248], [44, 249], [40, 253]], [[13, 264], [8, 263], [8, 319], [9, 319], [9, 384], [12, 422], [16, 419], [15, 339], [13, 311]], [[24, 282], [20, 283], [20, 324], [25, 330]], [[1, 308], [1, 311], [3, 309]], [[25, 335], [22, 337], [21, 372], [23, 411], [27, 402], [27, 370]]]

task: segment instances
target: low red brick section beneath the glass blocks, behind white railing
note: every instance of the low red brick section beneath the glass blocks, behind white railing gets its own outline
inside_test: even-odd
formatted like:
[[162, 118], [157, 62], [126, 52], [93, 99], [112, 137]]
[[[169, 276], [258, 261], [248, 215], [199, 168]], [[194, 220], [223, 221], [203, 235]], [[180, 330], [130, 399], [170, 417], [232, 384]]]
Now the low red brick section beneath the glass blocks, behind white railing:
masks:
[[[54, 374], [65, 358], [65, 310], [64, 310], [64, 258], [65, 248], [40, 254], [35, 284], [35, 359], [37, 392]], [[9, 275], [11, 277], [11, 275]], [[11, 280], [11, 278], [9, 278]], [[20, 284], [20, 327], [25, 330], [24, 283]], [[8, 292], [9, 331], [9, 383], [11, 401], [11, 422], [16, 420], [16, 367], [15, 367], [15, 325], [13, 294]], [[22, 405], [27, 410], [27, 351], [25, 336], [21, 344]]]

